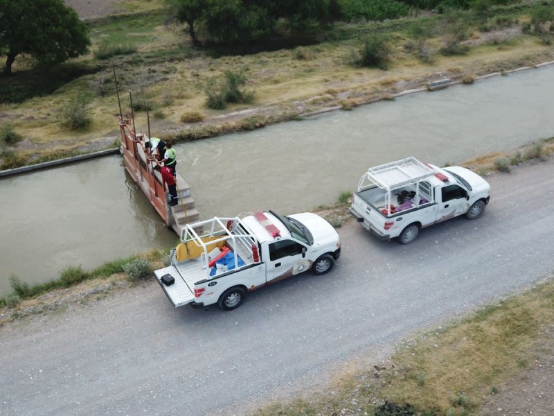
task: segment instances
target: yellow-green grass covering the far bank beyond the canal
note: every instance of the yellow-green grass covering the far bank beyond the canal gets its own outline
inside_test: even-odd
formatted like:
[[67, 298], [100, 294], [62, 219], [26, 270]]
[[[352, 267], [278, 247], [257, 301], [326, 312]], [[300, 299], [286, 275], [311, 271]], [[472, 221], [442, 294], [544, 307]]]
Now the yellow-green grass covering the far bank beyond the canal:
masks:
[[[320, 41], [314, 44], [282, 44], [279, 47], [268, 44], [267, 51], [224, 55], [217, 49], [193, 49], [181, 27], [165, 23], [163, 1], [129, 0], [122, 4], [120, 7], [133, 12], [87, 21], [92, 41], [89, 55], [54, 69], [28, 70], [24, 60], [16, 60], [14, 76], [9, 80], [0, 77], [2, 109], [9, 111], [12, 129], [28, 137], [31, 144], [38, 145], [39, 150], [33, 150], [35, 153], [45, 152], [53, 141], [63, 147], [75, 141], [114, 135], [116, 121], [114, 118], [110, 123], [109, 117], [118, 112], [118, 104], [112, 62], [122, 93], [123, 112], [129, 112], [127, 92], [132, 90], [134, 103], [141, 109], [145, 109], [148, 101], [152, 110], [152, 130], [171, 130], [175, 131], [172, 139], [188, 139], [266, 125], [257, 121], [235, 124], [215, 121], [216, 116], [244, 109], [244, 105], [233, 103], [227, 103], [225, 110], [206, 108], [206, 83], [211, 78], [224, 78], [226, 71], [244, 74], [247, 90], [255, 93], [249, 107], [271, 107], [273, 114], [267, 117], [273, 123], [289, 119], [295, 101], [302, 101], [313, 109], [338, 105], [349, 110], [357, 103], [397, 92], [395, 83], [387, 80], [419, 79], [424, 82], [429, 74], [459, 67], [471, 74], [465, 78], [467, 82], [472, 76], [519, 67], [522, 60], [528, 64], [550, 59], [548, 48], [530, 34], [521, 35], [517, 42], [503, 44], [502, 50], [492, 41], [471, 46], [465, 55], [448, 58], [438, 53], [443, 40], [435, 35], [426, 41], [429, 51], [434, 51], [433, 62], [421, 62], [417, 51], [408, 53], [404, 48], [406, 43], [413, 41], [409, 28], [416, 18], [337, 24], [321, 31]], [[501, 19], [495, 21], [515, 20], [528, 12], [523, 6], [497, 10]], [[418, 19], [437, 26], [441, 17]], [[464, 24], [477, 33], [481, 22], [468, 18]], [[349, 53], [358, 51], [363, 45], [361, 40], [371, 33], [381, 33], [391, 40], [387, 71], [352, 67], [348, 62]], [[102, 48], [106, 53], [98, 55]], [[464, 71], [455, 76], [463, 77]], [[66, 130], [59, 115], [83, 91], [94, 96], [84, 114], [90, 124], [80, 130]], [[327, 91], [348, 92], [352, 98], [337, 98], [337, 94], [325, 94]], [[323, 101], [310, 101], [318, 96], [328, 97]], [[217, 126], [191, 133], [179, 131], [184, 127], [181, 115], [186, 112], [203, 114], [204, 123]], [[136, 124], [146, 125], [143, 110], [136, 112]], [[33, 155], [28, 159], [33, 160]]]

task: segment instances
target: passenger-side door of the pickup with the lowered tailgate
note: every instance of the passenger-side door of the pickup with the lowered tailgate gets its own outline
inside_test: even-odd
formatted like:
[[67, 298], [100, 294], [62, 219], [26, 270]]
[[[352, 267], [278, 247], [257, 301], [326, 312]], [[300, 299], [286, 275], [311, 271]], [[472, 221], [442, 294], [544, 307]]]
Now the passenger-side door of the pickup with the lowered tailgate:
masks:
[[307, 247], [293, 239], [280, 239], [269, 243], [267, 261], [267, 283], [282, 280], [310, 268], [305, 259]]

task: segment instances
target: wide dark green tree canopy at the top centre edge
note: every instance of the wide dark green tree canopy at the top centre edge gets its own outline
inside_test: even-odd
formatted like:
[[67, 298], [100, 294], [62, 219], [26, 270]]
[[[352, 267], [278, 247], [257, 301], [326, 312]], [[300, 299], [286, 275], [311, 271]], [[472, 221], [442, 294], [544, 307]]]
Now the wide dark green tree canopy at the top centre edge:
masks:
[[199, 28], [217, 42], [258, 40], [274, 31], [278, 19], [301, 30], [312, 22], [332, 21], [339, 12], [337, 0], [167, 0], [175, 17], [188, 24], [195, 46]]

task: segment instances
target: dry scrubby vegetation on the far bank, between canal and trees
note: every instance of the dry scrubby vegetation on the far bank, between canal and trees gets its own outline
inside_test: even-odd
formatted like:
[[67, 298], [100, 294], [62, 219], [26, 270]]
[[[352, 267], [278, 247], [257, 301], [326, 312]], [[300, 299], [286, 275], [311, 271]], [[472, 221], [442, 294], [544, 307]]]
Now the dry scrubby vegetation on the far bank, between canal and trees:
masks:
[[[91, 11], [91, 5], [84, 1], [69, 3], [84, 8], [85, 12]], [[468, 80], [554, 59], [551, 46], [536, 36], [521, 33], [521, 24], [528, 19], [524, 15], [514, 17], [515, 23], [509, 26], [493, 27], [487, 32], [474, 29], [464, 41], [470, 50], [463, 55], [438, 53], [444, 40], [436, 36], [427, 42], [432, 59], [424, 62], [408, 47], [413, 42], [406, 34], [409, 19], [398, 27], [343, 24], [321, 33], [323, 42], [316, 44], [217, 56], [211, 51], [191, 48], [182, 28], [165, 24], [165, 16], [159, 11], [161, 0], [107, 4], [111, 7], [96, 10], [146, 10], [148, 14], [91, 21], [91, 54], [67, 64], [85, 68], [85, 75], [60, 85], [53, 94], [35, 96], [20, 104], [0, 105], [3, 122], [24, 137], [15, 147], [22, 158], [33, 161], [53, 150], [60, 154], [87, 153], [115, 146], [119, 110], [112, 60], [122, 92], [123, 113], [130, 111], [127, 94], [130, 90], [134, 103], [148, 101], [152, 132], [166, 139], [188, 140], [298, 119], [329, 107], [350, 110], [443, 77]], [[349, 63], [349, 55], [359, 48], [359, 39], [371, 33], [375, 25], [379, 30], [390, 31], [394, 40], [391, 64], [386, 71]], [[359, 36], [354, 36], [355, 33]], [[102, 42], [133, 45], [134, 52], [98, 60], [94, 53]], [[24, 69], [25, 65], [26, 60], [17, 60], [14, 69]], [[206, 83], [222, 77], [227, 70], [244, 73], [247, 89], [255, 94], [254, 100], [229, 105], [225, 110], [210, 110], [205, 105]], [[91, 94], [87, 104], [90, 123], [82, 130], [68, 130], [60, 123], [60, 114], [83, 91]], [[191, 120], [187, 114], [197, 117]], [[135, 116], [137, 128], [145, 130], [145, 111], [136, 111]]]

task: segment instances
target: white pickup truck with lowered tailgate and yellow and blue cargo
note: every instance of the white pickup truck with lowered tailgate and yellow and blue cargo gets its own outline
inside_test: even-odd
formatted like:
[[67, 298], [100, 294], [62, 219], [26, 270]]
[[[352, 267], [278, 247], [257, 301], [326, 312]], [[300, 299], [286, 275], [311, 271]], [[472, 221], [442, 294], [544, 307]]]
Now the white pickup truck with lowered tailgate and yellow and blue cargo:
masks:
[[217, 303], [231, 310], [266, 284], [308, 269], [323, 275], [340, 254], [339, 234], [320, 216], [256, 212], [186, 225], [171, 266], [154, 276], [176, 308]]

